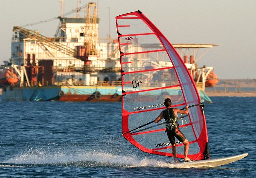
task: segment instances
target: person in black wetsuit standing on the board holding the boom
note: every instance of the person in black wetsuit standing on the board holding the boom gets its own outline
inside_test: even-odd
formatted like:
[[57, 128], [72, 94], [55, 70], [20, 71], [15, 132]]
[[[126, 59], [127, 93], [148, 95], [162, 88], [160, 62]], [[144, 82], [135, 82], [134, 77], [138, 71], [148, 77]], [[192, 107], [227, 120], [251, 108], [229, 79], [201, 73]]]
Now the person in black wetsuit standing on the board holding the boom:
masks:
[[189, 109], [187, 106], [184, 107], [185, 110], [180, 110], [178, 108], [172, 108], [172, 100], [170, 98], [165, 99], [164, 105], [166, 106], [166, 110], [163, 110], [160, 113], [160, 115], [154, 120], [154, 123], [159, 122], [163, 118], [166, 120], [166, 133], [169, 138], [169, 141], [172, 144], [172, 154], [173, 154], [175, 163], [177, 163], [175, 137], [180, 142], [182, 142], [184, 144], [184, 160], [191, 161], [191, 159], [188, 157], [189, 141], [186, 139], [186, 137], [180, 131], [179, 125], [177, 123], [177, 113], [188, 114]]

